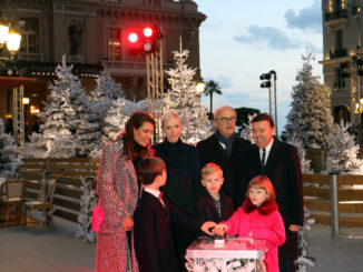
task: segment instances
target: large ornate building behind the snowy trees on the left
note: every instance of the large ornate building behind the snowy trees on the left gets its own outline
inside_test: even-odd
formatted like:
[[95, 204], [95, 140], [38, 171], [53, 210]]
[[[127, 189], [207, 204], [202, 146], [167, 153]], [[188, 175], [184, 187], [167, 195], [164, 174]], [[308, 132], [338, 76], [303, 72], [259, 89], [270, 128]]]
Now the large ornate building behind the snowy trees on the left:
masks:
[[[157, 26], [163, 33], [164, 68], [173, 66], [173, 50], [190, 50], [188, 64], [199, 70], [199, 26], [206, 16], [192, 0], [0, 0], [0, 18], [21, 27], [22, 41], [14, 61], [0, 68], [0, 118], [12, 111], [11, 77], [37, 79], [24, 84], [30, 105], [42, 108], [47, 85], [66, 53], [67, 62], [87, 90], [104, 68], [121, 82], [130, 100], [146, 97], [146, 60], [128, 50], [128, 29]], [[1, 52], [3, 54], [3, 52]], [[4, 69], [6, 67], [6, 69]], [[2, 77], [1, 77], [2, 75]], [[31, 130], [33, 118], [26, 109]], [[27, 114], [28, 112], [28, 114]], [[30, 131], [29, 131], [30, 132]]]

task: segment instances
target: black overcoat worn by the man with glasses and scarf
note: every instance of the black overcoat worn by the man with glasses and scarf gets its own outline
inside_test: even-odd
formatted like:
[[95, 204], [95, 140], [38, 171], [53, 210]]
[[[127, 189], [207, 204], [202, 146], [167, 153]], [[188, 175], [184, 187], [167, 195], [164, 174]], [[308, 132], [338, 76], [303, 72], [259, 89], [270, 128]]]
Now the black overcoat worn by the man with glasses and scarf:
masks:
[[251, 145], [248, 140], [238, 135], [235, 137], [232, 143], [232, 153], [228, 158], [226, 152], [220, 147], [216, 134], [197, 143], [197, 149], [200, 157], [200, 167], [203, 168], [208, 162], [217, 163], [224, 174], [223, 188], [225, 192], [233, 198], [235, 206], [242, 204], [242, 182], [236, 179], [236, 170], [239, 168], [238, 158], [242, 155], [243, 150]]

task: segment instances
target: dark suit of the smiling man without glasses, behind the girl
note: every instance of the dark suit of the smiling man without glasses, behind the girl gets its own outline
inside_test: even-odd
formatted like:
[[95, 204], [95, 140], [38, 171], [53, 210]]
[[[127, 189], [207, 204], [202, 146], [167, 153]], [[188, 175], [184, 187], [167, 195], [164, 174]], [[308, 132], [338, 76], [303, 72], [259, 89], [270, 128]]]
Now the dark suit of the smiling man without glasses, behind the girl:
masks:
[[262, 174], [267, 175], [274, 184], [278, 211], [286, 229], [286, 242], [279, 246], [279, 259], [296, 259], [297, 233], [288, 230], [291, 224], [304, 224], [302, 171], [296, 148], [275, 139], [266, 165], [262, 169], [258, 147], [249, 147], [241, 160], [239, 179], [244, 181], [244, 195], [248, 182]]

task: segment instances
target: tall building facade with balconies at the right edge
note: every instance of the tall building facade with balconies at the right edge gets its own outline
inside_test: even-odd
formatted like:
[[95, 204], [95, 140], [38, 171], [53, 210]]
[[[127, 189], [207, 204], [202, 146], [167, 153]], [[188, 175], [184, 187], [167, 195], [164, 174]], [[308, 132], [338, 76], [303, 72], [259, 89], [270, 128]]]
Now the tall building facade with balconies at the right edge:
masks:
[[[322, 0], [324, 82], [331, 89], [335, 122], [361, 127], [363, 0]], [[356, 130], [355, 130], [356, 131]]]

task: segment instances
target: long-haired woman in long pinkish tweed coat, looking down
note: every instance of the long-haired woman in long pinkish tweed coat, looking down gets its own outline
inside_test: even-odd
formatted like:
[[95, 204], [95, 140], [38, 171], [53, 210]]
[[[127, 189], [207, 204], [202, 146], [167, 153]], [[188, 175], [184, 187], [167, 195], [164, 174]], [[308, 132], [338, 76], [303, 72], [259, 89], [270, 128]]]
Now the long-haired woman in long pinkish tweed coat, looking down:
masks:
[[138, 272], [133, 243], [133, 214], [139, 185], [135, 165], [149, 153], [154, 118], [135, 112], [126, 131], [102, 151], [97, 193], [105, 216], [97, 236], [97, 272]]

